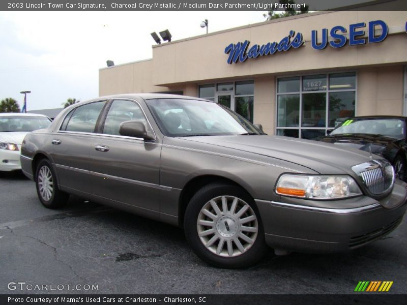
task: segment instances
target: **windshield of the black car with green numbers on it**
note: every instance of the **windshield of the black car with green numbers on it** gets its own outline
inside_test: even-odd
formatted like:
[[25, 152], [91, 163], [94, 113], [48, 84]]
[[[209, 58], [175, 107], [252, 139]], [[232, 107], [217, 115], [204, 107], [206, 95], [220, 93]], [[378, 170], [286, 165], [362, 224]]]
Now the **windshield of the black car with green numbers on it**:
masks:
[[405, 130], [403, 120], [398, 118], [353, 118], [345, 120], [331, 133], [337, 134], [372, 134], [403, 139]]

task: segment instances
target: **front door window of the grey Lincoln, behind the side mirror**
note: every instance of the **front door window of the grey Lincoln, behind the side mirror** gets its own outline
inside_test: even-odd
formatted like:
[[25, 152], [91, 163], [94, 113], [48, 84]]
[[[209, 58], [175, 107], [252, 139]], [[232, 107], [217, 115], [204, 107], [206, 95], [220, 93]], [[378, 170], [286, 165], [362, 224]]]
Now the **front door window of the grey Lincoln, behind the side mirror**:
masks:
[[103, 133], [108, 135], [120, 135], [120, 124], [125, 121], [140, 121], [147, 127], [147, 121], [140, 106], [133, 101], [115, 100], [106, 115]]

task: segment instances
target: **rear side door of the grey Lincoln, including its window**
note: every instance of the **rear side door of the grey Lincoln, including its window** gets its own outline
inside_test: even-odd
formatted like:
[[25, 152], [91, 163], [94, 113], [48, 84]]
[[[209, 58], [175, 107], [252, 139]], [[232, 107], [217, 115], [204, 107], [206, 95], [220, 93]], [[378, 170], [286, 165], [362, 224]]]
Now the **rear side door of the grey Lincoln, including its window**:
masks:
[[76, 107], [65, 117], [60, 130], [48, 137], [49, 152], [62, 190], [91, 195], [89, 151], [96, 121], [106, 104], [97, 101]]

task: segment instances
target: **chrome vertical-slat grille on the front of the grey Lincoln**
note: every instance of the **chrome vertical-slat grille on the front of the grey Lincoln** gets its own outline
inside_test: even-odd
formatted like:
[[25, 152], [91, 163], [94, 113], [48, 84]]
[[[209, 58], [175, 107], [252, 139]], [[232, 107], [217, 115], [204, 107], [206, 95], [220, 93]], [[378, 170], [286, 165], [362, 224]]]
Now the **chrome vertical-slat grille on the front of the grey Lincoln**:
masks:
[[394, 169], [385, 159], [355, 165], [352, 170], [361, 177], [366, 189], [372, 195], [385, 194], [393, 187]]

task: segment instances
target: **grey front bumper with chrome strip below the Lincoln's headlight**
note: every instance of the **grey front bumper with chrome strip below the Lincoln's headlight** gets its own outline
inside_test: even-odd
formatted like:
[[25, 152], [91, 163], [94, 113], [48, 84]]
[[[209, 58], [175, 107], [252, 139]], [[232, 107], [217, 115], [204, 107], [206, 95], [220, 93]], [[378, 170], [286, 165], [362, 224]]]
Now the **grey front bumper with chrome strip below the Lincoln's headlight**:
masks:
[[[281, 202], [255, 200], [263, 220], [267, 244], [278, 250], [331, 253], [349, 251], [367, 245], [393, 231], [407, 209], [406, 184], [397, 181], [390, 195], [380, 201], [392, 201], [397, 207], [386, 209], [366, 196], [346, 199], [363, 203], [351, 208], [330, 201], [330, 208], [307, 207], [281, 197]], [[286, 202], [283, 202], [285, 200]]]

